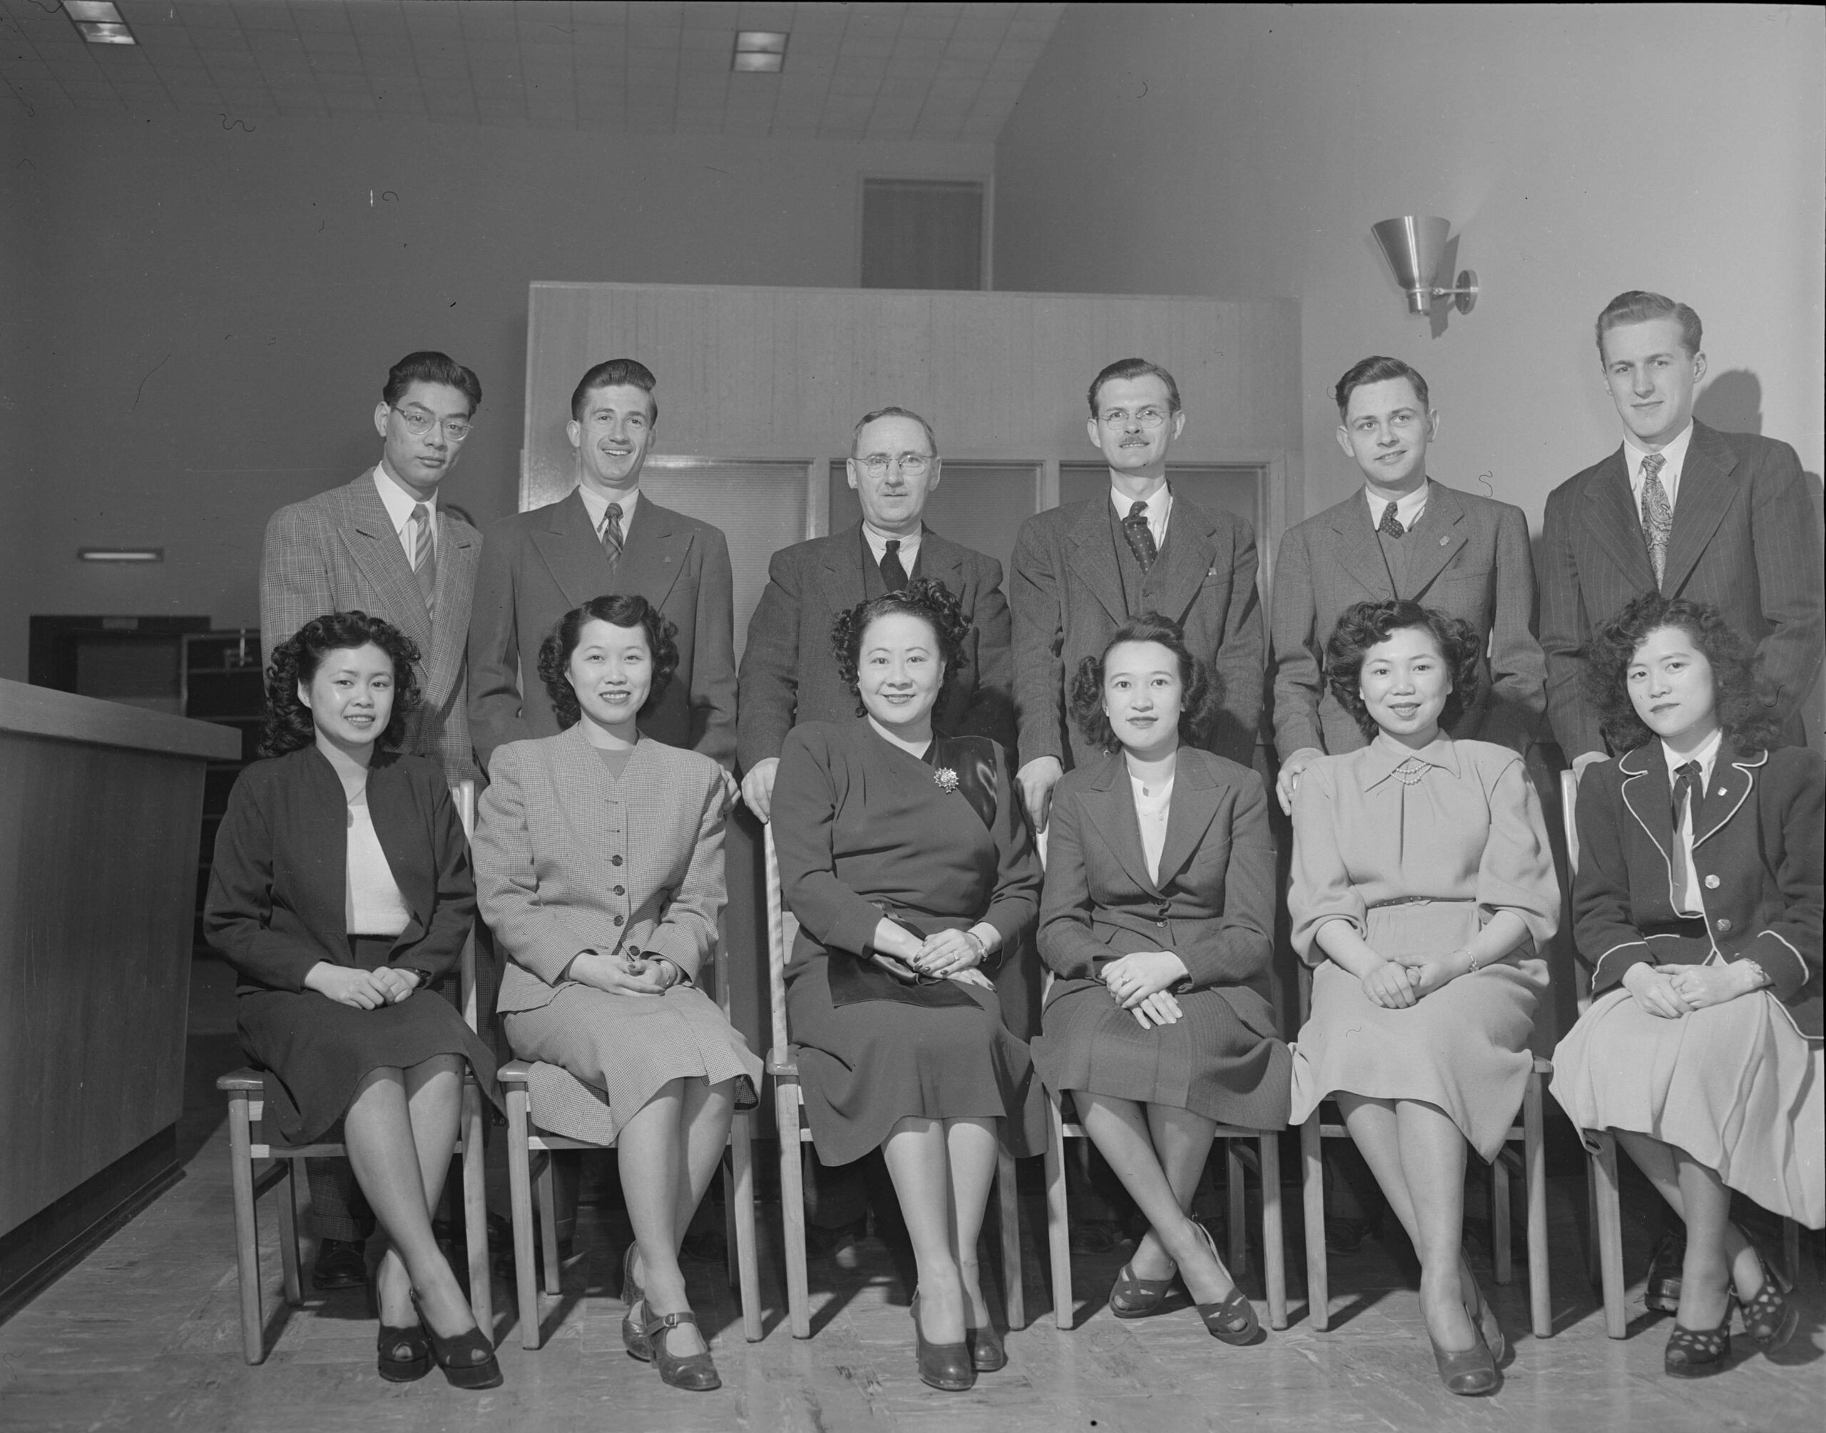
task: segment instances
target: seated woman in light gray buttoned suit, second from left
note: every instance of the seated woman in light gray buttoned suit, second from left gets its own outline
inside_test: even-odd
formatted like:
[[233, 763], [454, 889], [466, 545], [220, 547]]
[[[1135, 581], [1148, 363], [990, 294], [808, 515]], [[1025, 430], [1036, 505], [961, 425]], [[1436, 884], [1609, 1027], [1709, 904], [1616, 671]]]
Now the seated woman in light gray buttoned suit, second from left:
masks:
[[[645, 597], [593, 597], [539, 650], [562, 730], [489, 761], [475, 836], [482, 918], [509, 957], [497, 1002], [522, 1059], [606, 1103], [634, 1243], [621, 1338], [659, 1376], [721, 1386], [679, 1272], [679, 1245], [761, 1062], [696, 988], [723, 907], [723, 769], [641, 736], [677, 666]], [[573, 1088], [573, 1086], [572, 1086]], [[593, 1115], [601, 1106], [573, 1112]], [[566, 1130], [562, 1101], [540, 1124]]]

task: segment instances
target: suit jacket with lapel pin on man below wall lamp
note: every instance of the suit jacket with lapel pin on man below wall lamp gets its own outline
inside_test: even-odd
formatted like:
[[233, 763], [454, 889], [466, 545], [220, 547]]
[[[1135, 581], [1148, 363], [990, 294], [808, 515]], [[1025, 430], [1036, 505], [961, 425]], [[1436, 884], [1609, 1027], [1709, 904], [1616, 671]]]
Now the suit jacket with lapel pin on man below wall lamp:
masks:
[[[1547, 706], [1547, 663], [1534, 641], [1534, 557], [1528, 518], [1506, 502], [1428, 478], [1426, 511], [1390, 579], [1362, 489], [1289, 528], [1275, 566], [1275, 748], [1353, 752], [1366, 745], [1326, 683], [1326, 641], [1351, 602], [1408, 597], [1477, 630], [1477, 696], [1455, 737], [1523, 750]], [[1399, 584], [1399, 586], [1397, 586]]]

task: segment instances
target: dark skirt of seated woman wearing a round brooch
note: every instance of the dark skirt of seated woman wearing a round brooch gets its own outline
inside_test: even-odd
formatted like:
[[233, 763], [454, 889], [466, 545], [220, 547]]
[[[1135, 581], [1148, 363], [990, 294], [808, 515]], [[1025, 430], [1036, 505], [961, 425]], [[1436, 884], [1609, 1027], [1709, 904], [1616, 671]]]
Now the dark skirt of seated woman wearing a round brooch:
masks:
[[1044, 1148], [1044, 1106], [1028, 1048], [1002, 1024], [993, 989], [951, 982], [968, 1006], [831, 1000], [831, 960], [787, 971], [787, 1019], [813, 1145], [825, 1165], [878, 1148], [902, 1119], [1006, 1119], [1017, 1156]]

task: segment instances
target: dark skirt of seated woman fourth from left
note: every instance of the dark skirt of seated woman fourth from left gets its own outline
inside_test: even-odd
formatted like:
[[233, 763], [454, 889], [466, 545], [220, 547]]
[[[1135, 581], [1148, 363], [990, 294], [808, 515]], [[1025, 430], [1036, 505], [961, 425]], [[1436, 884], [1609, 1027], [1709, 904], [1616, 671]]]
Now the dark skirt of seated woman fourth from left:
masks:
[[1099, 980], [1061, 980], [1034, 1066], [1048, 1090], [1169, 1104], [1245, 1130], [1287, 1126], [1293, 1057], [1236, 1019], [1216, 989], [1176, 997], [1183, 1019], [1143, 1030]]

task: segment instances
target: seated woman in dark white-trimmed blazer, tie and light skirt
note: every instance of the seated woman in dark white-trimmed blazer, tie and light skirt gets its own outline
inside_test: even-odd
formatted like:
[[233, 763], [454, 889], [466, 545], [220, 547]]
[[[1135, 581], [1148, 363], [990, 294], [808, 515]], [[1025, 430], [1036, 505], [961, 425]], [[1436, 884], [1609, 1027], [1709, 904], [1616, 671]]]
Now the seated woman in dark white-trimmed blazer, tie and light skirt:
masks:
[[1826, 1223], [1826, 765], [1769, 747], [1749, 644], [1700, 602], [1623, 608], [1592, 644], [1589, 694], [1625, 756], [1579, 783], [1592, 1004], [1554, 1051], [1554, 1095], [1581, 1130], [1612, 1130], [1685, 1219], [1665, 1367], [1693, 1378], [1724, 1367], [1733, 1298], [1766, 1353], [1799, 1325], [1731, 1190]]

